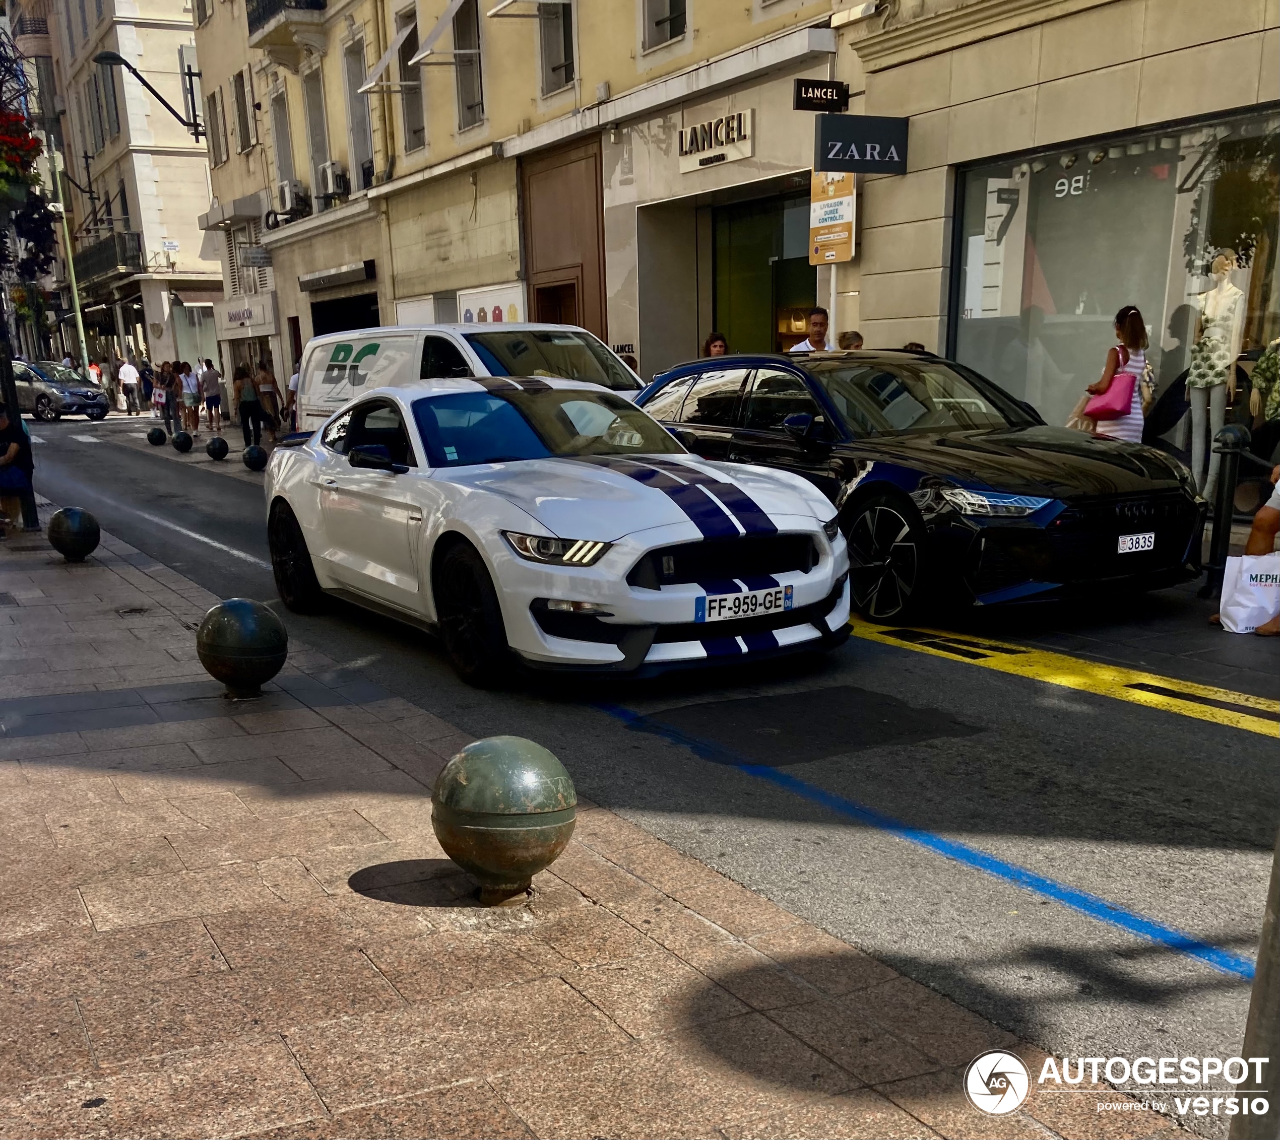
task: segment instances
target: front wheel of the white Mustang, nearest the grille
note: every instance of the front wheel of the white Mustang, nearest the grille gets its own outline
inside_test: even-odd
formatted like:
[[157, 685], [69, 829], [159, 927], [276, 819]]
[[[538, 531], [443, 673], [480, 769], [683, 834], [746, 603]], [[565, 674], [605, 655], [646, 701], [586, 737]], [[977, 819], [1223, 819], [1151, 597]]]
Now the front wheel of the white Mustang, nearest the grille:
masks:
[[467, 685], [492, 688], [509, 673], [511, 649], [489, 568], [475, 548], [460, 542], [440, 559], [434, 582], [449, 663]]

